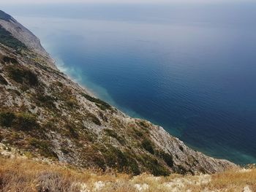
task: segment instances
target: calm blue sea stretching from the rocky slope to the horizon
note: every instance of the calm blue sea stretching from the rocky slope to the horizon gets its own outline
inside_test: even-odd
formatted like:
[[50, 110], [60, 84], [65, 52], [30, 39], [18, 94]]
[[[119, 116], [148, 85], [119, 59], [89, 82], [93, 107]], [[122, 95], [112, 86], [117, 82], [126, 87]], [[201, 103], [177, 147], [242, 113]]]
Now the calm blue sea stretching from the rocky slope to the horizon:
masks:
[[4, 8], [100, 98], [208, 155], [256, 163], [256, 4]]

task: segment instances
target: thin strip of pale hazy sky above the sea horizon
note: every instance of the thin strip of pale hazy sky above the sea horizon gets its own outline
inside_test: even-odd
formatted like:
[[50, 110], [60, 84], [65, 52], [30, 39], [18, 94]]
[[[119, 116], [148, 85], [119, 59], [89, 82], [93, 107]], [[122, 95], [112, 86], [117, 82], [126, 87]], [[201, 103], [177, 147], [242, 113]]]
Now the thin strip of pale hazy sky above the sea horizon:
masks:
[[227, 3], [255, 0], [0, 0], [2, 4], [56, 4], [56, 3]]

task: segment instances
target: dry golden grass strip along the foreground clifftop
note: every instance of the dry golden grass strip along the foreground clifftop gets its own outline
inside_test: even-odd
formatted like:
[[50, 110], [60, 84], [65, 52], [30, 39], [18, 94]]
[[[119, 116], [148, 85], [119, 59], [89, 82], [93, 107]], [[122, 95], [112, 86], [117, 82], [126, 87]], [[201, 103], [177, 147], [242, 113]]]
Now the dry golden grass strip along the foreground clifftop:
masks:
[[26, 158], [0, 157], [0, 191], [256, 191], [256, 169], [233, 169], [213, 175], [154, 177], [78, 170]]

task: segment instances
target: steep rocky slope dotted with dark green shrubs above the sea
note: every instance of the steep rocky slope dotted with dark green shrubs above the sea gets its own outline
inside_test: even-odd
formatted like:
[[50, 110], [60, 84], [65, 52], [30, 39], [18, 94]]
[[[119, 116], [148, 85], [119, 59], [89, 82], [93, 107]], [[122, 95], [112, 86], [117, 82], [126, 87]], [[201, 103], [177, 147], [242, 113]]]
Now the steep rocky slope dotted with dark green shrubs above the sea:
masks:
[[39, 39], [0, 12], [0, 142], [31, 157], [155, 175], [230, 166], [130, 118], [59, 72]]

